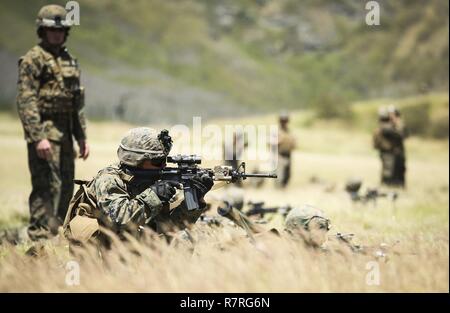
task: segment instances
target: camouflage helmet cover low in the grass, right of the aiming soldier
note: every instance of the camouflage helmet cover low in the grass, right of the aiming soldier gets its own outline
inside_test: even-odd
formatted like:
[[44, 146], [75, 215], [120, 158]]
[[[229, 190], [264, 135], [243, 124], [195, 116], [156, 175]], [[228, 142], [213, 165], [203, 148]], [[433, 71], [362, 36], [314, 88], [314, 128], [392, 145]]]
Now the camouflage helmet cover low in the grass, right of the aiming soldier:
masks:
[[309, 224], [312, 221], [324, 230], [330, 229], [330, 220], [325, 217], [321, 210], [310, 205], [302, 205], [292, 209], [286, 216], [285, 228], [288, 231], [309, 230]]

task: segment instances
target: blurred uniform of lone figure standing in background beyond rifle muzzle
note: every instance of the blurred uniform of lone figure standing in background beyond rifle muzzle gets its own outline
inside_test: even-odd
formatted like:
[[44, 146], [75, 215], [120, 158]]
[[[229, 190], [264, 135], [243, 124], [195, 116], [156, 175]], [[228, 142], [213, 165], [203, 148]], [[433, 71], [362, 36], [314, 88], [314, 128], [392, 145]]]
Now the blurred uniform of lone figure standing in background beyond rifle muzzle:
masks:
[[[288, 121], [286, 116], [281, 116], [280, 121]], [[295, 138], [286, 127], [278, 130], [278, 160], [277, 160], [277, 187], [284, 188], [291, 178], [291, 153], [295, 149]]]

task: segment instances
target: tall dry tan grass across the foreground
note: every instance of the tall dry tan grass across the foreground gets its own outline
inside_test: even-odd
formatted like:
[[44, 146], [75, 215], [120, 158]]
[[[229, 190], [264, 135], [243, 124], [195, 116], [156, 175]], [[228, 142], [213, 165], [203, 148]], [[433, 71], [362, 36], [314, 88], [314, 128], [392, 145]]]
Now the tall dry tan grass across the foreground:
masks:
[[[268, 236], [251, 244], [235, 229], [197, 230], [190, 247], [154, 239], [152, 247], [118, 243], [99, 258], [95, 249], [69, 256], [48, 243], [39, 258], [8, 249], [2, 258], [2, 291], [149, 292], [379, 292], [448, 291], [448, 236], [411, 235], [387, 258], [337, 249], [324, 253]], [[60, 251], [58, 251], [60, 250]], [[66, 283], [69, 261], [80, 266], [80, 284]], [[373, 262], [379, 284], [370, 284]]]

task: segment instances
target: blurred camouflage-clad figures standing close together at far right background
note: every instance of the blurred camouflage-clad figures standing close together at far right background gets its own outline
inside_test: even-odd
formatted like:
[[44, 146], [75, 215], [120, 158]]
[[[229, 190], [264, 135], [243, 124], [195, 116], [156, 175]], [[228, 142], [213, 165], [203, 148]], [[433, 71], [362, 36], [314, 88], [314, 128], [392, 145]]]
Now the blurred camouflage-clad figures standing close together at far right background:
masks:
[[373, 144], [381, 159], [381, 182], [386, 185], [405, 185], [405, 129], [399, 128], [380, 112], [379, 126], [373, 135]]

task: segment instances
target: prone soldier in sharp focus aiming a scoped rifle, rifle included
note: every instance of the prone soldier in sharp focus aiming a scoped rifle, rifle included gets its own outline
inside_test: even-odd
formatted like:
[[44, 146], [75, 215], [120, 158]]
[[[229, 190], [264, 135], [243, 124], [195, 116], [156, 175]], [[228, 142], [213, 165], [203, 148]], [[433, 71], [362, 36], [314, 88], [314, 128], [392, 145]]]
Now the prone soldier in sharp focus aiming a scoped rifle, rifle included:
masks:
[[[246, 174], [245, 163], [237, 169], [201, 168], [199, 157], [169, 156], [171, 148], [167, 130], [157, 134], [146, 127], [131, 129], [117, 150], [119, 163], [107, 166], [89, 182], [78, 181], [81, 186], [64, 221], [65, 236], [73, 243], [93, 241], [108, 247], [108, 232], [121, 239], [139, 238], [149, 228], [170, 240], [174, 231], [188, 228], [207, 210], [204, 196], [214, 181], [276, 178]], [[166, 163], [178, 167], [166, 167]], [[184, 197], [177, 189], [183, 190]]]

